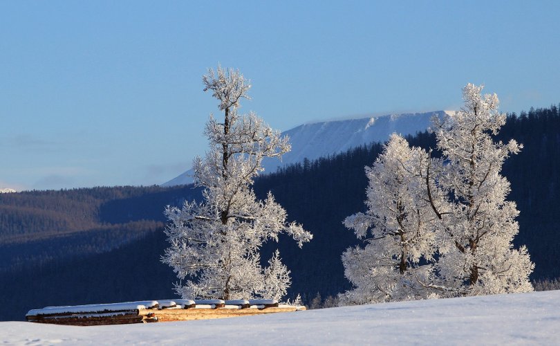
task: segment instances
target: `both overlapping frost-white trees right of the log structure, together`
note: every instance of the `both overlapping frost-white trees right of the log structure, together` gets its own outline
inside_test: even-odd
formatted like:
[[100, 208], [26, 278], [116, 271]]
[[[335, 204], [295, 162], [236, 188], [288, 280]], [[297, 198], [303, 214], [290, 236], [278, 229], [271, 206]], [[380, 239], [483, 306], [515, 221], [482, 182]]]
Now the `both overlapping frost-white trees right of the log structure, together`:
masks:
[[525, 246], [513, 248], [519, 211], [506, 201], [510, 183], [500, 175], [522, 146], [494, 142], [505, 114], [496, 94], [482, 89], [467, 84], [465, 107], [434, 118], [441, 159], [393, 135], [366, 167], [367, 212], [344, 224], [371, 238], [342, 256], [354, 284], [343, 302], [532, 291], [534, 264]]

